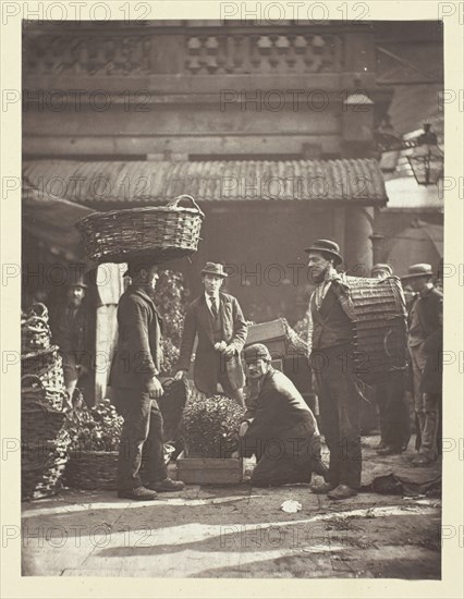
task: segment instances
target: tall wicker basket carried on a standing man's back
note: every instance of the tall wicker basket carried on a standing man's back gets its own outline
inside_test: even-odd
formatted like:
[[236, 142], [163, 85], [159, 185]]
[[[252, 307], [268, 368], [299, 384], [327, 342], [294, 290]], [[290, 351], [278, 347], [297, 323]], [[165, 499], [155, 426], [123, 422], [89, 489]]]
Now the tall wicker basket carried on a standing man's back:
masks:
[[404, 370], [407, 359], [407, 323], [404, 294], [398, 277], [350, 277], [356, 313], [355, 369], [367, 384]]

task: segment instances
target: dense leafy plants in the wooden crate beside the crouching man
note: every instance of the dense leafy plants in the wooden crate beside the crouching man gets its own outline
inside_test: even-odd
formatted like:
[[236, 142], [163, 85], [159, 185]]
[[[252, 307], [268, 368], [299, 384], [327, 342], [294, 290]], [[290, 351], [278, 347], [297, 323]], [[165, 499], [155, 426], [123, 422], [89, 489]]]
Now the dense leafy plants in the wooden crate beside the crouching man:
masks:
[[244, 408], [225, 395], [197, 395], [185, 407], [181, 430], [188, 457], [231, 457], [239, 450]]

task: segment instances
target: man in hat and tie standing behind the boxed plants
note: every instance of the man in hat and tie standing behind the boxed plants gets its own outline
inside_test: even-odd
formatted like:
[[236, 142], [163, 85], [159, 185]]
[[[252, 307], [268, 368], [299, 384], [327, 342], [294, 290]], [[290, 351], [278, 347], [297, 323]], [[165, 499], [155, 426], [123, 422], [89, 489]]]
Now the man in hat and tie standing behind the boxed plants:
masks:
[[225, 395], [243, 406], [245, 376], [240, 353], [248, 327], [235, 297], [221, 292], [227, 277], [221, 264], [206, 262], [202, 270], [205, 292], [187, 308], [175, 378], [182, 378], [188, 370], [198, 338], [194, 363], [196, 388], [213, 395], [219, 382]]

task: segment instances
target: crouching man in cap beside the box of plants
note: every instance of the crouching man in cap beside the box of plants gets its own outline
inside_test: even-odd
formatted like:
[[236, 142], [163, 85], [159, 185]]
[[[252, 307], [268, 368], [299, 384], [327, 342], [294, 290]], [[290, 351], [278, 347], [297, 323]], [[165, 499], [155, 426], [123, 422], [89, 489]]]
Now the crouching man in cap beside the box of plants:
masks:
[[316, 418], [293, 382], [272, 368], [266, 345], [247, 347], [245, 363], [248, 379], [259, 389], [239, 430], [242, 456], [255, 454], [257, 460], [252, 484], [310, 482], [313, 472], [325, 477]]

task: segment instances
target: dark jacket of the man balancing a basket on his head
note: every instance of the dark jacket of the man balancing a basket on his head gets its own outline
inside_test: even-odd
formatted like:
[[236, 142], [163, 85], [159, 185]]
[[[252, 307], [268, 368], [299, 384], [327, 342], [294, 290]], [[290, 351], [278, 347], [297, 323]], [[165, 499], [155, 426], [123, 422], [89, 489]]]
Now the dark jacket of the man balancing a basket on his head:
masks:
[[111, 387], [144, 391], [162, 363], [162, 319], [148, 293], [130, 286], [118, 305], [118, 349], [111, 366]]

